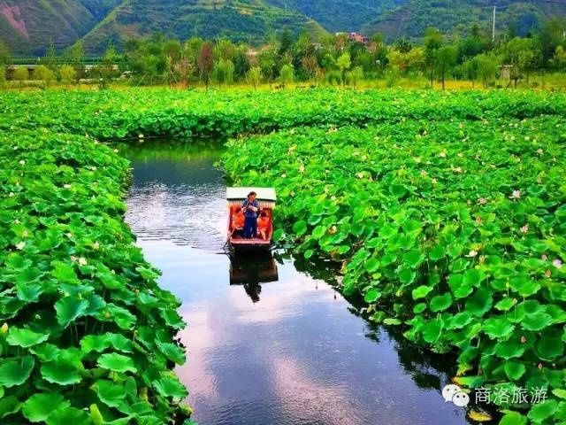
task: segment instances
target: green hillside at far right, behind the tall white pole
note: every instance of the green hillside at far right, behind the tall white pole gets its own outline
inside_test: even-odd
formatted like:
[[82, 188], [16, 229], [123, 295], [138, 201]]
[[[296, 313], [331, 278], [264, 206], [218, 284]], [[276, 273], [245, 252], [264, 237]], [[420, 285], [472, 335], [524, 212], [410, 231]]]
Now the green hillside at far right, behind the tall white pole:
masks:
[[566, 2], [556, 0], [409, 0], [363, 26], [363, 32], [382, 32], [390, 39], [419, 37], [427, 27], [448, 33], [466, 33], [477, 23], [491, 32], [493, 6], [497, 6], [497, 30], [525, 35], [550, 18], [566, 17]]

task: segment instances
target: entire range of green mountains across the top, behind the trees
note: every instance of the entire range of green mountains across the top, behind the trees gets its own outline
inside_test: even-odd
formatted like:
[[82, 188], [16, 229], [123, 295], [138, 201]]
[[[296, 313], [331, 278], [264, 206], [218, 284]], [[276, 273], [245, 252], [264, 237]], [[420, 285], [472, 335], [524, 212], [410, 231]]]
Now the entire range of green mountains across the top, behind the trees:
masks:
[[0, 41], [14, 55], [41, 55], [83, 38], [91, 53], [108, 43], [161, 32], [186, 39], [227, 36], [263, 42], [272, 31], [384, 33], [421, 37], [426, 27], [467, 33], [473, 24], [526, 34], [545, 19], [566, 16], [566, 0], [0, 0]]

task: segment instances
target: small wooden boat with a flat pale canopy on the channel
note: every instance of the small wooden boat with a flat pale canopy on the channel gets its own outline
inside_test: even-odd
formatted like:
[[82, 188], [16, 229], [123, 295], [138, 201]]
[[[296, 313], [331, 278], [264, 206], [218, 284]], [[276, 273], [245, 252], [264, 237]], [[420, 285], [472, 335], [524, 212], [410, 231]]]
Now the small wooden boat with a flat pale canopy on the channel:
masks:
[[[256, 192], [260, 213], [266, 213], [269, 219], [269, 228], [265, 238], [257, 235], [251, 239], [245, 238], [243, 228], [239, 227], [236, 214], [241, 214], [241, 206], [248, 198], [249, 192]], [[241, 251], [269, 251], [272, 247], [273, 236], [273, 210], [277, 202], [275, 189], [272, 188], [227, 188], [228, 201], [228, 243], [235, 252]], [[241, 217], [240, 217], [241, 219]]]

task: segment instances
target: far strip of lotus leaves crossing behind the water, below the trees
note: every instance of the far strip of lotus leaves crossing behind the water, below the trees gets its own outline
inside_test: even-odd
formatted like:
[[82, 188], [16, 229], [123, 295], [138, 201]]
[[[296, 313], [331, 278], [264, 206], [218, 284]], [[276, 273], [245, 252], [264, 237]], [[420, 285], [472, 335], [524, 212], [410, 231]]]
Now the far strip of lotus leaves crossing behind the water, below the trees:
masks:
[[351, 91], [276, 92], [128, 89], [8, 92], [0, 97], [0, 130], [50, 128], [98, 139], [241, 135], [297, 126], [398, 120], [536, 117], [566, 110], [563, 93]]

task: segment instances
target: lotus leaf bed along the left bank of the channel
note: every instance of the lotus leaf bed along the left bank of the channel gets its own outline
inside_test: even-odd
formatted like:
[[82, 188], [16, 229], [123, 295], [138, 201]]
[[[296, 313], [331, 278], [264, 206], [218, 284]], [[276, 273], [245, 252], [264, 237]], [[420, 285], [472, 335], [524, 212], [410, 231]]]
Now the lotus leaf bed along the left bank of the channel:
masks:
[[129, 163], [80, 135], [0, 134], [0, 419], [162, 425], [180, 302], [123, 220]]

